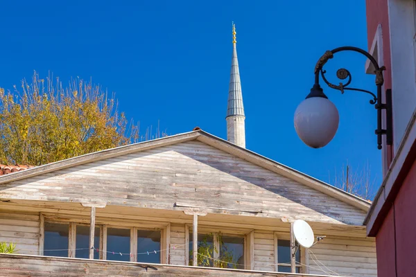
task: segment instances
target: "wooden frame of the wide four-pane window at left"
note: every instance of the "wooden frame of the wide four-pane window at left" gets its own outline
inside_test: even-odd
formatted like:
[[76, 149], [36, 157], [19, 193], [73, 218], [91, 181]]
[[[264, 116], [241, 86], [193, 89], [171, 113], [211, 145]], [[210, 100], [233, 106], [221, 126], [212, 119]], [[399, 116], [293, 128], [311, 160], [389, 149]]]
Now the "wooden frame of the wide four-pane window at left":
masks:
[[[89, 226], [87, 217], [71, 217], [64, 215], [46, 214], [40, 215], [40, 255], [44, 256], [44, 226], [45, 223], [69, 224], [68, 257], [75, 258], [76, 255], [76, 226]], [[155, 227], [150, 227], [154, 225]], [[112, 220], [110, 218], [98, 218], [95, 227], [100, 227], [100, 251], [99, 260], [107, 260], [107, 229], [130, 229], [130, 253], [137, 253], [137, 231], [160, 231], [160, 264], [168, 265], [169, 248], [171, 236], [171, 223], [169, 222], [141, 222], [139, 220]], [[137, 262], [137, 255], [130, 255], [130, 262]]]

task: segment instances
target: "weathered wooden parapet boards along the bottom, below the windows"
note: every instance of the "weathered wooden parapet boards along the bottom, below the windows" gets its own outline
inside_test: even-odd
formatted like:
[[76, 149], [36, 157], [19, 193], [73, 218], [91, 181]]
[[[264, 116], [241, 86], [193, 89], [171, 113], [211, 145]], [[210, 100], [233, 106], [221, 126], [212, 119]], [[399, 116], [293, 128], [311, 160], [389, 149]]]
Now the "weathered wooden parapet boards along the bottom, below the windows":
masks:
[[[138, 262], [110, 262], [73, 258], [33, 257], [0, 254], [0, 276], [144, 276], [144, 277], [261, 277], [264, 272], [238, 269], [212, 269], [175, 265], [141, 264]], [[306, 277], [302, 274], [267, 273], [275, 277]], [[319, 277], [319, 276], [316, 276]]]

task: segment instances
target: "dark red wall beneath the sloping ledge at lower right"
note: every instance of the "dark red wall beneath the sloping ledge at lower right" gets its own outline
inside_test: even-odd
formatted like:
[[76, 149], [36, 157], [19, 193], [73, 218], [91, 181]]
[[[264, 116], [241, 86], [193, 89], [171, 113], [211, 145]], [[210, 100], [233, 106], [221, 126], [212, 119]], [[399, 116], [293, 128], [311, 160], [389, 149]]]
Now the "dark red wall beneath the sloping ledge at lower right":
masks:
[[376, 247], [378, 277], [396, 276], [395, 251], [397, 276], [416, 276], [416, 159], [376, 235]]

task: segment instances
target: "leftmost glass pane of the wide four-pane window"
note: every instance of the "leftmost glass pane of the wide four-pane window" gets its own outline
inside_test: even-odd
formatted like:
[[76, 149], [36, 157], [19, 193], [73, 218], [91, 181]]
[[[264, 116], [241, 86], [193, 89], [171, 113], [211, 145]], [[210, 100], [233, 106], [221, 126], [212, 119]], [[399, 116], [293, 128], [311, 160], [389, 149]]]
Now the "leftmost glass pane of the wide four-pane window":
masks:
[[[45, 222], [44, 256], [68, 257], [69, 224]], [[52, 251], [53, 249], [62, 249]]]

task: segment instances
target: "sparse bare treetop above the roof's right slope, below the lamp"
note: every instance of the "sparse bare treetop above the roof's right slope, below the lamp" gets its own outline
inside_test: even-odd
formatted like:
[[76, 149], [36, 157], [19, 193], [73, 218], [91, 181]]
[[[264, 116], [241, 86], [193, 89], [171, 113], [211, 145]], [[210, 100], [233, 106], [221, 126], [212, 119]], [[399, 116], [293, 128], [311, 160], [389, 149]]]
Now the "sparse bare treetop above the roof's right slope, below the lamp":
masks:
[[352, 167], [347, 163], [347, 166], [344, 166], [339, 173], [336, 172], [333, 185], [366, 200], [374, 197], [375, 179], [371, 177], [368, 162], [361, 170], [352, 170]]

